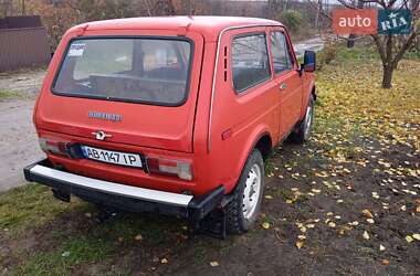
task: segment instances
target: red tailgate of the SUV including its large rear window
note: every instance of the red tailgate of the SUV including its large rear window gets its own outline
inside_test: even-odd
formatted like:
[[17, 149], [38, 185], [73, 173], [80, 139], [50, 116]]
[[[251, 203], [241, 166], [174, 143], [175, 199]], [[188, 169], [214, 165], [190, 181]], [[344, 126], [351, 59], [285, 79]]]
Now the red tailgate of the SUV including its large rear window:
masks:
[[[150, 33], [153, 33], [153, 35], [150, 35]], [[157, 50], [156, 54], [151, 56], [157, 60], [151, 61], [149, 59], [146, 63], [145, 59], [147, 56], [144, 53], [136, 54], [135, 51], [133, 51], [134, 53], [132, 54], [132, 50], [129, 50], [133, 55], [132, 57], [132, 55], [126, 55], [124, 51], [119, 49], [119, 46], [124, 46], [127, 43], [115, 43], [117, 46], [115, 46], [114, 52], [122, 52], [120, 54], [115, 55], [111, 52], [111, 55], [115, 55], [112, 56], [112, 62], [124, 65], [120, 66], [120, 72], [112, 72], [112, 74], [103, 74], [101, 71], [101, 74], [95, 72], [93, 76], [92, 74], [90, 75], [88, 82], [84, 82], [73, 79], [76, 78], [74, 77], [75, 74], [83, 75], [84, 71], [74, 71], [73, 77], [71, 77], [69, 82], [64, 79], [61, 86], [54, 86], [57, 75], [60, 74], [55, 73], [60, 72], [60, 70], [66, 65], [66, 62], [72, 62], [72, 59], [87, 56], [88, 54], [92, 56], [96, 54], [96, 56], [98, 56], [97, 52], [102, 51], [101, 47], [112, 44], [109, 43], [111, 39], [107, 32], [102, 33], [96, 31], [92, 34], [87, 32], [85, 36], [85, 40], [75, 38], [73, 42], [72, 40], [65, 41], [67, 49], [62, 47], [57, 51], [55, 59], [63, 56], [62, 62], [53, 62], [52, 64], [55, 67], [49, 71], [49, 75], [42, 88], [41, 100], [39, 100], [38, 114], [35, 116], [36, 125], [42, 126], [41, 128], [44, 130], [66, 134], [75, 138], [87, 137], [96, 139], [95, 134], [101, 130], [109, 135], [106, 141], [111, 142], [192, 152], [195, 109], [203, 51], [202, 35], [189, 32], [186, 35], [179, 36], [176, 35], [176, 33], [158, 30], [128, 30], [118, 31], [118, 35], [111, 38], [113, 40], [143, 40], [143, 43], [147, 39], [148, 41], [154, 41], [157, 45], [159, 41], [162, 43], [168, 43], [168, 41], [171, 43], [172, 41], [174, 43], [178, 41], [189, 43], [191, 46], [189, 50], [190, 63], [188, 67], [186, 66], [185, 68], [185, 73], [187, 74], [186, 96], [185, 99], [174, 104], [113, 98], [113, 96], [116, 95], [116, 91], [122, 91], [120, 93], [118, 92], [118, 96], [126, 96], [132, 95], [130, 93], [138, 89], [137, 87], [147, 88], [144, 95], [147, 93], [150, 95], [156, 93], [170, 94], [170, 85], [160, 82], [160, 86], [150, 86], [147, 82], [154, 81], [159, 84], [159, 81], [156, 79], [159, 79], [160, 76], [168, 78], [174, 75], [174, 72], [176, 73], [183, 68], [179, 64], [179, 59], [176, 59], [179, 53], [168, 55], [166, 53], [159, 53]], [[88, 43], [90, 45], [93, 44], [91, 38], [97, 41], [97, 47], [87, 49]], [[104, 44], [99, 43], [102, 39], [104, 39]], [[149, 45], [155, 44], [149, 43]], [[146, 50], [143, 49], [141, 51], [145, 52]], [[147, 51], [150, 52], [154, 51], [154, 49], [149, 46]], [[138, 65], [136, 59], [145, 60], [144, 64], [141, 64], [143, 67], [136, 68]], [[101, 60], [92, 57], [84, 62], [85, 70], [96, 66], [95, 64], [99, 64], [98, 66], [103, 67]], [[165, 63], [165, 68], [159, 67], [162, 62]], [[125, 64], [128, 64], [127, 68], [125, 68]], [[150, 68], [145, 67], [145, 65]], [[77, 66], [77, 63], [75, 63], [75, 65], [70, 64], [67, 67], [72, 68], [71, 66]], [[137, 74], [137, 72], [145, 70], [149, 72], [147, 82], [143, 82], [143, 78], [138, 77], [139, 74]], [[126, 74], [127, 71], [136, 71], [136, 74]], [[136, 82], [138, 82], [137, 79], [140, 79], [140, 84], [136, 84]], [[78, 86], [71, 91], [69, 87], [72, 86], [67, 85], [66, 82], [76, 83]], [[93, 93], [77, 94], [77, 89], [87, 89], [90, 86], [93, 86], [92, 83], [95, 85], [94, 93], [101, 94], [101, 97], [95, 97], [96, 95], [92, 96]], [[164, 86], [169, 88], [162, 88]], [[67, 93], [69, 91], [74, 93]], [[108, 97], [108, 95], [112, 96]], [[169, 95], [169, 97], [171, 97], [171, 95]]]

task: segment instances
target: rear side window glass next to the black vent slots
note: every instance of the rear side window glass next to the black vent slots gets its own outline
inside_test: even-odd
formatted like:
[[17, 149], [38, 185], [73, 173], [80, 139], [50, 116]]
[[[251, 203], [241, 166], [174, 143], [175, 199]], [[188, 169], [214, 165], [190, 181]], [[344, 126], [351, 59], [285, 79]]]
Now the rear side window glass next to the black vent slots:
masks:
[[233, 39], [232, 75], [238, 93], [271, 77], [265, 34], [249, 34]]

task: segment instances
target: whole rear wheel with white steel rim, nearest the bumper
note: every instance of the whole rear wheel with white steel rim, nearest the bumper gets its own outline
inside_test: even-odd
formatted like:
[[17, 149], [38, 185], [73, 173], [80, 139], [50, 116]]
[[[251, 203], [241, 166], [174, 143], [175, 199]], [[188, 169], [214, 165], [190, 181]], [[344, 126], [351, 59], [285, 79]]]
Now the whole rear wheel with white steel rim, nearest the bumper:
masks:
[[248, 157], [233, 198], [227, 206], [228, 225], [231, 234], [241, 234], [255, 224], [264, 189], [264, 163], [261, 152], [254, 149]]

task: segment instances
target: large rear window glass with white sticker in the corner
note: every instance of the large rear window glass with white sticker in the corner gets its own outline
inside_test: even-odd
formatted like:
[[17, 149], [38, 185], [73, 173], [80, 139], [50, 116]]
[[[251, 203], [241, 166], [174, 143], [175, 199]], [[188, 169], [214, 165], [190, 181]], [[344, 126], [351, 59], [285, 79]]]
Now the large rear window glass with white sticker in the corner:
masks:
[[191, 43], [179, 39], [73, 40], [53, 84], [53, 93], [181, 105], [188, 95], [191, 53]]

